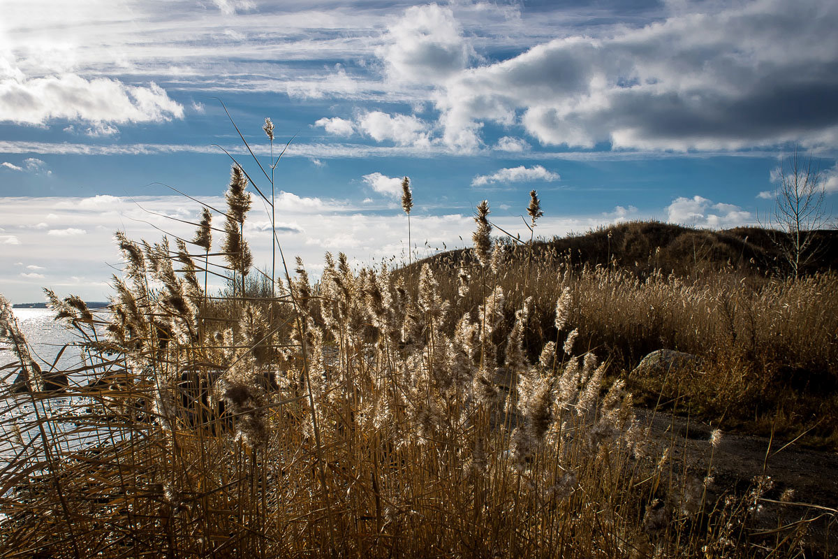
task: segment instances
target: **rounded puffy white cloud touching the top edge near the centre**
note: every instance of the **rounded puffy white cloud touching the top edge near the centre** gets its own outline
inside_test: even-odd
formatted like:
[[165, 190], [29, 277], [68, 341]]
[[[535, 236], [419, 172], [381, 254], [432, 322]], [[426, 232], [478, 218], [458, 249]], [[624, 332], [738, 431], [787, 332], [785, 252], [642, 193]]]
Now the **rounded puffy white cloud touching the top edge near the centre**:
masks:
[[436, 3], [407, 8], [389, 28], [386, 41], [375, 53], [392, 80], [444, 80], [463, 70], [474, 55], [451, 8]]

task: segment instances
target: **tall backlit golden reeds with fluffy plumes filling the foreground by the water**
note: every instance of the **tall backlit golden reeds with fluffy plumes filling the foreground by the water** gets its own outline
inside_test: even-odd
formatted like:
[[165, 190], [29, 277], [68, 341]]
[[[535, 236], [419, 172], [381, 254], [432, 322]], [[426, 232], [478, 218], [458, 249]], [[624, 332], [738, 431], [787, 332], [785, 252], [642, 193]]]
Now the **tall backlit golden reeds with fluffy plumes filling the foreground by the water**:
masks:
[[[471, 258], [456, 274], [427, 263], [413, 274], [353, 271], [343, 254], [326, 255], [318, 282], [297, 260], [293, 273], [281, 267], [282, 279], [272, 271], [270, 296], [251, 298], [241, 235], [248, 186], [236, 163], [224, 228], [205, 212], [192, 241], [173, 247], [117, 233], [125, 269], [106, 312], [48, 292], [56, 318], [79, 334], [83, 362], [74, 370], [37, 364], [0, 300], [2, 334], [17, 356], [2, 370], [0, 554], [751, 557], [801, 549], [801, 525], [770, 536], [753, 530], [766, 479], [711, 498], [709, 472], [650, 447], [613, 353], [592, 341], [599, 330], [590, 317], [608, 314], [610, 327], [630, 336], [644, 328], [633, 317], [680, 321], [723, 308], [710, 286], [640, 283], [603, 269], [548, 274], [531, 251], [523, 275], [501, 272], [506, 248], [490, 235], [484, 202]], [[408, 181], [404, 189], [409, 195]], [[537, 201], [533, 193], [533, 227]], [[215, 254], [213, 231], [224, 235]], [[210, 298], [206, 275], [220, 269], [230, 290]], [[822, 281], [771, 289], [802, 302]], [[680, 311], [674, 291], [691, 302]], [[629, 301], [634, 293], [619, 313], [603, 306], [616, 292]], [[758, 313], [775, 312], [768, 292], [759, 301]], [[782, 312], [826, 320], [812, 308]], [[696, 323], [677, 340], [725, 327]], [[785, 335], [777, 331], [753, 330]]]

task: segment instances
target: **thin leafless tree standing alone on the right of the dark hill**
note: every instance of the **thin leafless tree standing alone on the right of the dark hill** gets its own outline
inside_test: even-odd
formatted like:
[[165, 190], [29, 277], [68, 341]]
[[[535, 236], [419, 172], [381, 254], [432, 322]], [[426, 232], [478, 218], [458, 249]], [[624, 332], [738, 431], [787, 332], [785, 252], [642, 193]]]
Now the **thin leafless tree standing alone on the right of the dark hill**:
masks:
[[817, 255], [815, 231], [828, 224], [820, 164], [797, 149], [777, 168], [779, 186], [768, 225], [782, 234], [774, 241], [794, 277]]

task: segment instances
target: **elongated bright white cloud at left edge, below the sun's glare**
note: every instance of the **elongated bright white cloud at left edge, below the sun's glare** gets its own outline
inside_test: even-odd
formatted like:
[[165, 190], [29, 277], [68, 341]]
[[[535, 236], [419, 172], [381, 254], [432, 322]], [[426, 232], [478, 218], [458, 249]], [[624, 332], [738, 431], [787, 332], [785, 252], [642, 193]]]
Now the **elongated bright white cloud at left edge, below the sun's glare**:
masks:
[[[154, 82], [125, 85], [120, 80], [87, 80], [71, 73], [28, 78], [0, 75], [0, 122], [42, 125], [56, 118], [92, 122], [160, 122], [183, 118], [184, 107]], [[101, 135], [101, 134], [100, 134]]]

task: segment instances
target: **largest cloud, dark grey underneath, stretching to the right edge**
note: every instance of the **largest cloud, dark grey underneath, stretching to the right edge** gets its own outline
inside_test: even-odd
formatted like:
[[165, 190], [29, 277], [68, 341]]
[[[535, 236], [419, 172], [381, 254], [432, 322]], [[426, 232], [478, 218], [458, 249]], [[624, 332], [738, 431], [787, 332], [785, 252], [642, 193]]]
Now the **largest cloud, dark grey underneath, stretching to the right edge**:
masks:
[[450, 77], [437, 94], [443, 137], [473, 149], [480, 124], [498, 122], [582, 148], [834, 143], [836, 22], [838, 3], [757, 0], [554, 39]]

